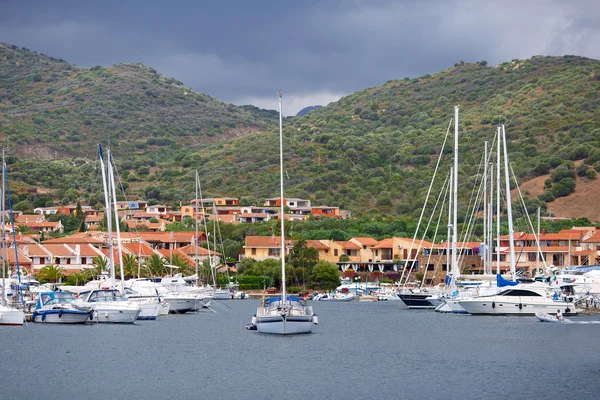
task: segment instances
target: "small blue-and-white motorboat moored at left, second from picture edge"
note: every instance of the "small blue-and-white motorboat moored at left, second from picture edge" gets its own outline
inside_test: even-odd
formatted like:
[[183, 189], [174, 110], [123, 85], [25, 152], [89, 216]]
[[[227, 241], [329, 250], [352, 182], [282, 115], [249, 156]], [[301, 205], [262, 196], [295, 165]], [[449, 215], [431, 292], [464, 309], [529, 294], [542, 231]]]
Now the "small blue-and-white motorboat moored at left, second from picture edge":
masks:
[[78, 304], [70, 292], [42, 292], [31, 318], [47, 324], [84, 324], [93, 319], [93, 311], [90, 306]]

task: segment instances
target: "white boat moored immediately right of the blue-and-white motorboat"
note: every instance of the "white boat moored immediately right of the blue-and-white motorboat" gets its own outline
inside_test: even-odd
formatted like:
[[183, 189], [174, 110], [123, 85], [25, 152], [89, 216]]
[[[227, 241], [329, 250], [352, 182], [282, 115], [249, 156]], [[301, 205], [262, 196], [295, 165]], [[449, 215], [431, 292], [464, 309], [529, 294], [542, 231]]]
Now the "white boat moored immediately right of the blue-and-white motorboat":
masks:
[[123, 297], [117, 289], [94, 289], [81, 292], [79, 301], [89, 304], [96, 322], [133, 323], [140, 315], [140, 306]]

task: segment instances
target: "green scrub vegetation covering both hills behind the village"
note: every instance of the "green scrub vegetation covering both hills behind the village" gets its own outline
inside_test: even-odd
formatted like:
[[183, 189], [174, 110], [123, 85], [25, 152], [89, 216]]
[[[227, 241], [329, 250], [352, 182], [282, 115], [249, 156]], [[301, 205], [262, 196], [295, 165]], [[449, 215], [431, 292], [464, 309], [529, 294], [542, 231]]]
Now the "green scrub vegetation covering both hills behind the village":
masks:
[[[58, 202], [101, 199], [90, 158], [94, 143], [106, 142], [108, 133], [130, 195], [186, 202], [193, 197], [194, 169], [207, 195], [248, 204], [277, 195], [273, 112], [220, 103], [141, 65], [80, 69], [30, 51], [0, 49], [0, 135], [16, 154], [9, 161], [24, 183], [19, 200], [33, 204], [40, 191]], [[16, 67], [6, 67], [7, 54], [22, 57], [18, 75]], [[26, 71], [25, 56], [37, 69]], [[459, 62], [287, 118], [286, 195], [368, 216], [418, 216], [458, 104], [459, 180], [466, 187], [461, 197], [470, 194], [484, 140], [492, 141], [496, 124], [504, 123], [519, 180], [549, 174], [544, 191], [529, 193], [528, 200], [532, 209], [545, 209], [576, 192], [577, 181], [594, 181], [600, 170], [599, 72], [598, 61], [576, 56], [498, 66]], [[36, 149], [58, 151], [59, 159], [41, 159]], [[583, 212], [590, 202], [581, 207]]]

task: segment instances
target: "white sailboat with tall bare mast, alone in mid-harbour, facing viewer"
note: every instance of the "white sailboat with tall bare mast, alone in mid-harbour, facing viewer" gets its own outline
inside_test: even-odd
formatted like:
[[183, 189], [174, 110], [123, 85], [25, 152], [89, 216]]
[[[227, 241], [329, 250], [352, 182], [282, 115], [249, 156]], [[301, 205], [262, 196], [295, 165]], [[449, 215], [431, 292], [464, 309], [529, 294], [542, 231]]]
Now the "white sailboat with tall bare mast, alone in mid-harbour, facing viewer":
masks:
[[284, 229], [284, 197], [283, 197], [283, 116], [282, 95], [279, 92], [279, 167], [281, 210], [281, 297], [266, 299], [256, 310], [249, 329], [258, 332], [278, 335], [311, 333], [313, 325], [318, 323], [312, 307], [306, 306], [301, 299], [288, 297], [285, 287], [285, 229]]

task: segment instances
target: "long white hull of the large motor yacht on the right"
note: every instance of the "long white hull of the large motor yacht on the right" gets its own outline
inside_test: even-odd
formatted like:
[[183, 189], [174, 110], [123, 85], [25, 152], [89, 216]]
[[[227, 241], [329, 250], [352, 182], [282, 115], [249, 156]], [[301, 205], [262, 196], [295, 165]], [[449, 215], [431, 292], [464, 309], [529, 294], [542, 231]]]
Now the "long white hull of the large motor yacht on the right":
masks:
[[563, 315], [576, 314], [577, 310], [572, 303], [559, 303], [551, 300], [540, 299], [499, 299], [473, 298], [461, 300], [458, 304], [469, 314], [473, 315], [535, 315], [536, 313], [556, 314], [557, 310]]

